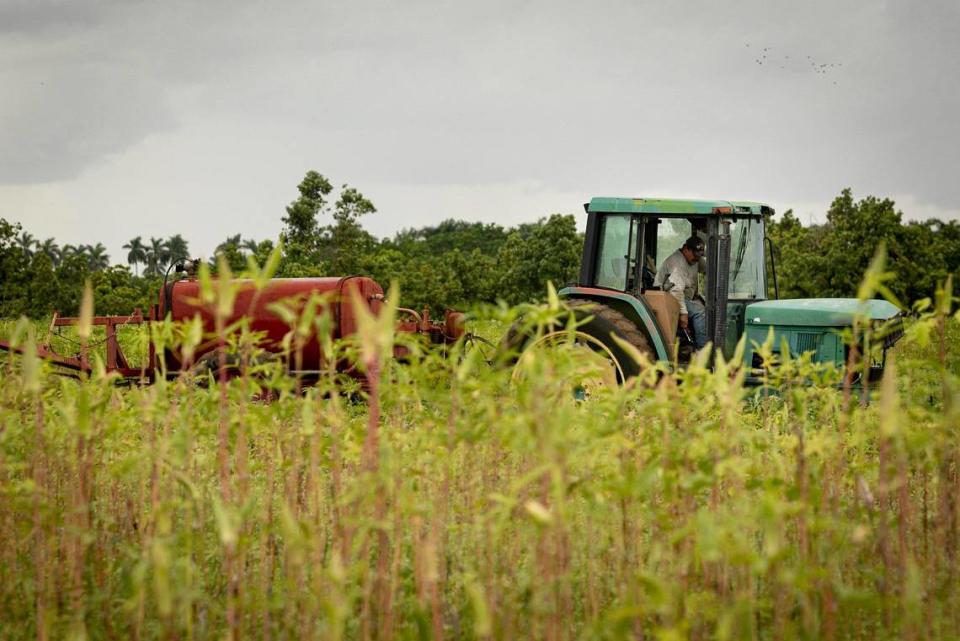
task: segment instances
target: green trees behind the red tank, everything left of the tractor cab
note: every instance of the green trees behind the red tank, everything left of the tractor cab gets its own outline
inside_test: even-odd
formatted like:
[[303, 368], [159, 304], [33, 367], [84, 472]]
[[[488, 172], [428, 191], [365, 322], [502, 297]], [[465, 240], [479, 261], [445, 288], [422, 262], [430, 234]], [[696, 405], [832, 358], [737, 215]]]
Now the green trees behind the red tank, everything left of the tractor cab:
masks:
[[[262, 264], [279, 241], [278, 277], [363, 274], [384, 286], [396, 281], [404, 305], [436, 313], [478, 302], [538, 298], [547, 281], [575, 278], [583, 242], [574, 216], [561, 214], [516, 227], [445, 220], [378, 239], [362, 224], [376, 213], [373, 202], [349, 185], [335, 189], [316, 171], [307, 172], [296, 198], [281, 211], [276, 241], [228, 236], [217, 246], [211, 267], [216, 269], [221, 257], [235, 273], [250, 258]], [[0, 317], [75, 314], [88, 280], [98, 314], [146, 310], [156, 302], [167, 270], [191, 256], [181, 234], [148, 241], [136, 236], [123, 250], [125, 264], [116, 264], [102, 243], [93, 250], [61, 248], [54, 239], [40, 242], [21, 225], [0, 218]]]

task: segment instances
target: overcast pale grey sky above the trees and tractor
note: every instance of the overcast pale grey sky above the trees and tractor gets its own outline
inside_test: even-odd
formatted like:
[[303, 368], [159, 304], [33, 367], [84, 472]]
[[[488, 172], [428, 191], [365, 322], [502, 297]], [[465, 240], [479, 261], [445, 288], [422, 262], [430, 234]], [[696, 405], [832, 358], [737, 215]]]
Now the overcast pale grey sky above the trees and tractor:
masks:
[[208, 256], [315, 169], [377, 236], [845, 187], [956, 219], [957, 33], [956, 0], [0, 0], [0, 218]]

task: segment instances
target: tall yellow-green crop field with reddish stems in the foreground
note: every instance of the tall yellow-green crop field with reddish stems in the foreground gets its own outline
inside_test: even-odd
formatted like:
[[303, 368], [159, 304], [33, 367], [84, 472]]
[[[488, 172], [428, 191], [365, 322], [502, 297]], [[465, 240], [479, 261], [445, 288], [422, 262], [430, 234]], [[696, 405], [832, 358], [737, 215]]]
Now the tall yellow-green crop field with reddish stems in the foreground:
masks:
[[[578, 383], [602, 365], [576, 348], [397, 362], [389, 313], [324, 346], [356, 378], [309, 386], [4, 356], [0, 639], [956, 639], [951, 304], [918, 308], [872, 392], [805, 358], [769, 394], [735, 359], [621, 387]], [[563, 314], [468, 329], [520, 313]]]

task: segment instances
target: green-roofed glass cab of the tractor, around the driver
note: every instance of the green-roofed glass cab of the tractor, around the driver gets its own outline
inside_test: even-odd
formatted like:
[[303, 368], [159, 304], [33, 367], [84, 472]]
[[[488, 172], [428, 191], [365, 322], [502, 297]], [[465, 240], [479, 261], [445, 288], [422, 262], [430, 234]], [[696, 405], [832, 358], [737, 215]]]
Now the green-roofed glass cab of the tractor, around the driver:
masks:
[[706, 340], [733, 353], [746, 306], [767, 298], [764, 217], [772, 209], [644, 198], [594, 198], [585, 209], [580, 278], [565, 295], [602, 301], [641, 322], [651, 357], [686, 360], [690, 349], [686, 333], [678, 333], [680, 304], [655, 282], [664, 261], [687, 238], [699, 236], [706, 247], [697, 288], [707, 312]]

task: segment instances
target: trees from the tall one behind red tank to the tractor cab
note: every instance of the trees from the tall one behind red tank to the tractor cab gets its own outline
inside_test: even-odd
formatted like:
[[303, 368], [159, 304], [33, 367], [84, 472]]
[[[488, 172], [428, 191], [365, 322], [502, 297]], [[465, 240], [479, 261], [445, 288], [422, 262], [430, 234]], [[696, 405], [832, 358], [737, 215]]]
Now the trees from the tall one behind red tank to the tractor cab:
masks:
[[[378, 242], [361, 225], [376, 207], [357, 189], [343, 185], [332, 210], [326, 197], [333, 188], [324, 176], [308, 172], [299, 190], [301, 198], [284, 219], [285, 237], [296, 242], [284, 246], [280, 276], [367, 274], [398, 283], [406, 305], [439, 313], [500, 299], [533, 300], [546, 282], [576, 274], [582, 239], [573, 216], [557, 214], [509, 234], [498, 225], [448, 220]], [[331, 222], [323, 224], [327, 214]], [[296, 229], [293, 220], [300, 221]]]

